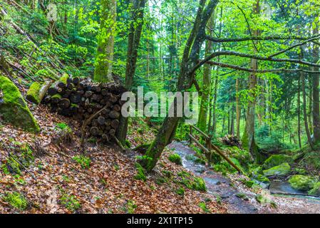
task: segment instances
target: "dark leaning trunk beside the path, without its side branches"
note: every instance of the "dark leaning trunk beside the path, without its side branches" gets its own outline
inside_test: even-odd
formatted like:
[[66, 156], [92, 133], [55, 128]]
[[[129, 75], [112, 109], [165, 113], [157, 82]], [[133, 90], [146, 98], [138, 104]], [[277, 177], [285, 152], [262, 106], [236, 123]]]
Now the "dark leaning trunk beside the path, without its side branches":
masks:
[[[197, 10], [197, 16], [193, 24], [190, 36], [185, 44], [185, 50], [182, 55], [182, 62], [180, 67], [180, 75], [177, 81], [177, 90], [185, 91], [192, 86], [195, 78], [195, 67], [200, 59], [200, 50], [202, 43], [206, 38], [206, 26], [209, 21], [215, 6], [217, 6], [217, 0], [210, 0], [205, 4], [205, 0], [200, 0], [199, 8]], [[175, 98], [176, 101], [176, 98]], [[175, 105], [175, 101], [172, 105]], [[173, 106], [174, 107], [174, 106]], [[172, 107], [172, 108], [173, 108]], [[161, 125], [158, 135], [155, 137], [152, 145], [145, 153], [145, 159], [141, 160], [142, 165], [146, 170], [151, 171], [158, 162], [158, 159], [167, 144], [169, 144], [175, 135], [178, 121], [180, 117], [166, 117]]]

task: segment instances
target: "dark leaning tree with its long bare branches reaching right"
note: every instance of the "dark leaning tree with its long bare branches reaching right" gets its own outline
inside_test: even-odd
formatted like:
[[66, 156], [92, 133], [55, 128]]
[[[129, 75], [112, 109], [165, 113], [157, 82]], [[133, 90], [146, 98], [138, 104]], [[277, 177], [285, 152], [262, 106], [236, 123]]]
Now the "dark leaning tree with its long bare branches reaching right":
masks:
[[[277, 63], [296, 63], [301, 66], [312, 66], [315, 69], [320, 65], [317, 63], [311, 63], [309, 61], [304, 61], [301, 59], [295, 58], [277, 58], [277, 56], [282, 53], [286, 53], [296, 47], [303, 46], [306, 43], [311, 41], [319, 40], [320, 35], [316, 34], [311, 37], [302, 37], [302, 36], [246, 36], [242, 38], [220, 38], [209, 36], [206, 34], [207, 23], [212, 16], [212, 12], [215, 10], [218, 0], [200, 0], [199, 8], [197, 9], [197, 15], [195, 17], [195, 21], [190, 32], [190, 36], [187, 39], [187, 43], [185, 44], [185, 49], [182, 55], [182, 61], [180, 63], [180, 74], [177, 81], [177, 91], [184, 92], [192, 87], [192, 85], [197, 84], [195, 81], [195, 72], [204, 66], [205, 64], [210, 64], [212, 66], [220, 66], [223, 68], [232, 68], [237, 71], [245, 71], [249, 73], [276, 73], [276, 72], [305, 72], [305, 73], [319, 73], [318, 71], [307, 71], [303, 68], [274, 68], [267, 70], [260, 70], [257, 68], [245, 68], [243, 66], [236, 66], [228, 63], [221, 63], [220, 61], [214, 61], [214, 58], [219, 56], [236, 56], [238, 58], [249, 58], [257, 61], [270, 61]], [[273, 53], [270, 56], [262, 56], [257, 53], [241, 53], [237, 51], [215, 51], [205, 58], [200, 59], [200, 51], [202, 48], [202, 44], [205, 41], [212, 41], [213, 43], [231, 43], [231, 42], [244, 42], [244, 41], [280, 41], [280, 40], [297, 40], [299, 43], [296, 43], [288, 48], [283, 49], [282, 51], [278, 51], [277, 53]], [[177, 103], [177, 98], [172, 102], [172, 109], [175, 110], [174, 105]], [[157, 164], [159, 157], [164, 150], [165, 146], [168, 145], [174, 135], [177, 128], [177, 124], [181, 118], [174, 116], [167, 116], [163, 121], [160, 130], [158, 131], [158, 135], [156, 135], [155, 140], [148, 148], [143, 160], [141, 160], [141, 164], [145, 167], [147, 171], [153, 170], [153, 167]]]

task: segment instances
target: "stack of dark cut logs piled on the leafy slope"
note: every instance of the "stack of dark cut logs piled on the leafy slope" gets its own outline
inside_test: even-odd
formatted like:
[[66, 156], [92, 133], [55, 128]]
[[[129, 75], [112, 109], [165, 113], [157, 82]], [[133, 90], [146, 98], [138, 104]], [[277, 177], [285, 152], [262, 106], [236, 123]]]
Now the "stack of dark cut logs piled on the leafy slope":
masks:
[[48, 86], [42, 103], [53, 112], [79, 120], [87, 137], [108, 142], [118, 129], [124, 92], [116, 83], [63, 76]]

